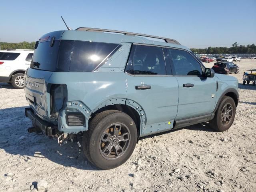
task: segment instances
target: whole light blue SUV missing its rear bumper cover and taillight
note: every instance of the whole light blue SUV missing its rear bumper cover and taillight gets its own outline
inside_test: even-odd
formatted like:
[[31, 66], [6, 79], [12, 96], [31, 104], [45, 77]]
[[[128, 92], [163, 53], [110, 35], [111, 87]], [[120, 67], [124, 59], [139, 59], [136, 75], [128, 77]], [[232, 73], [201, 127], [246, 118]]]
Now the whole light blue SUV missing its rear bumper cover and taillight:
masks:
[[79, 146], [82, 137], [101, 169], [123, 164], [146, 135], [201, 122], [228, 130], [239, 100], [236, 78], [214, 75], [176, 40], [96, 28], [42, 36], [25, 80], [28, 132]]

